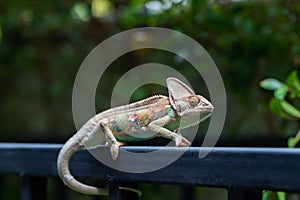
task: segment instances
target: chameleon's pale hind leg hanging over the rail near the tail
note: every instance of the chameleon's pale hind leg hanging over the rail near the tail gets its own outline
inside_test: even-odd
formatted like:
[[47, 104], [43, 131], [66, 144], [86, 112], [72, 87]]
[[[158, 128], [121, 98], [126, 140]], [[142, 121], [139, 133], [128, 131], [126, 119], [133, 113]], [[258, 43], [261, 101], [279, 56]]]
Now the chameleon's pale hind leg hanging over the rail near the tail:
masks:
[[101, 123], [100, 126], [105, 134], [107, 142], [110, 145], [111, 157], [113, 160], [116, 160], [119, 155], [119, 147], [123, 146], [124, 143], [117, 141], [116, 137], [114, 136], [114, 134], [111, 132], [110, 128], [106, 124]]

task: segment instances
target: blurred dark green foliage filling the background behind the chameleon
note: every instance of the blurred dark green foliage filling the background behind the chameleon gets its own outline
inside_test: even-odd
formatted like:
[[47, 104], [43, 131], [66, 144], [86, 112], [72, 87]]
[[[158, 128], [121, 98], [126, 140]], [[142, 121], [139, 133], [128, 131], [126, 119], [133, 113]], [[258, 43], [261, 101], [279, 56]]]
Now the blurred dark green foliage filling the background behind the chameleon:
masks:
[[[299, 20], [296, 0], [1, 1], [0, 140], [65, 141], [75, 132], [72, 87], [86, 55], [111, 35], [143, 26], [181, 31], [212, 56], [228, 98], [223, 137], [294, 135], [297, 122], [270, 113], [266, 102], [271, 94], [258, 83], [299, 71]], [[97, 110], [110, 107], [113, 86], [122, 74], [148, 62], [174, 67], [197, 93], [207, 93], [186, 61], [167, 52], [140, 50], [121, 56], [105, 72]], [[157, 92], [166, 94], [164, 88], [141, 87], [132, 100]], [[276, 96], [285, 93], [282, 87]]]

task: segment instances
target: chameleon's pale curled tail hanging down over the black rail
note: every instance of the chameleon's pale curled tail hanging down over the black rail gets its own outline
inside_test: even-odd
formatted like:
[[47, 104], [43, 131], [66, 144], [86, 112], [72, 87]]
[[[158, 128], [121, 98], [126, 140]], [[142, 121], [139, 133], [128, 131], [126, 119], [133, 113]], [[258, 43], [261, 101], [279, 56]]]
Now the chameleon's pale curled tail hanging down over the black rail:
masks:
[[93, 134], [99, 126], [92, 118], [83, 127], [71, 137], [59, 152], [57, 159], [57, 171], [64, 184], [69, 188], [89, 195], [108, 195], [108, 190], [85, 185], [77, 181], [69, 169], [69, 161], [74, 153], [84, 147], [83, 141], [92, 139]]

